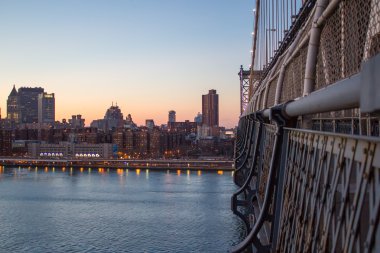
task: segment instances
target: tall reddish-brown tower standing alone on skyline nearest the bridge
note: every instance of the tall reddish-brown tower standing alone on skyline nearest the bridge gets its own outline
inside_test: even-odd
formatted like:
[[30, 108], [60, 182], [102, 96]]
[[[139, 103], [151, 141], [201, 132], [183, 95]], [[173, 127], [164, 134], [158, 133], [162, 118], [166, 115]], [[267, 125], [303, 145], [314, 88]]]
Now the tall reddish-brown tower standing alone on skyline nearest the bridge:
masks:
[[219, 95], [216, 90], [209, 90], [208, 94], [202, 95], [202, 124], [219, 126]]

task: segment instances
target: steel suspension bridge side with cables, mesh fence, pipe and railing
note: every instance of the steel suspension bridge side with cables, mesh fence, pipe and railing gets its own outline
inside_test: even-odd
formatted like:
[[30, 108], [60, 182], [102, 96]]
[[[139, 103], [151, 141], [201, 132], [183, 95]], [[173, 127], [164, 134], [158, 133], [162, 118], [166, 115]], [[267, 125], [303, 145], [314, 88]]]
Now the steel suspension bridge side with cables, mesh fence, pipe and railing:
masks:
[[380, 252], [380, 0], [256, 0], [232, 252]]

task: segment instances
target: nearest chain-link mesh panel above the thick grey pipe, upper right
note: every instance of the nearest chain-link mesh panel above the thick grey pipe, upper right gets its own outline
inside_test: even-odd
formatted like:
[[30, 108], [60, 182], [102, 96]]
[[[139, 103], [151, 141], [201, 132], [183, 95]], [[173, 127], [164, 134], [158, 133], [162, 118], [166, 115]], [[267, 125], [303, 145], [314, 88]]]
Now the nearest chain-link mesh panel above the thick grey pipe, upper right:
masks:
[[379, 3], [342, 1], [334, 14], [327, 19], [321, 33], [315, 89], [360, 71], [366, 40], [373, 38], [367, 36], [371, 5], [378, 7]]

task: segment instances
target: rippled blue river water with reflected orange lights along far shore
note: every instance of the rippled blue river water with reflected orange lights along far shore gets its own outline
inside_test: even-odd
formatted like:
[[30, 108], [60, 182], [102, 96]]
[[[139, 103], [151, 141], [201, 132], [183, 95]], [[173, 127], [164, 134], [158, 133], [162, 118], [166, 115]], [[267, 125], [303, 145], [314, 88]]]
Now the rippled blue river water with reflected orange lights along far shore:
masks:
[[228, 252], [232, 172], [0, 169], [0, 252]]

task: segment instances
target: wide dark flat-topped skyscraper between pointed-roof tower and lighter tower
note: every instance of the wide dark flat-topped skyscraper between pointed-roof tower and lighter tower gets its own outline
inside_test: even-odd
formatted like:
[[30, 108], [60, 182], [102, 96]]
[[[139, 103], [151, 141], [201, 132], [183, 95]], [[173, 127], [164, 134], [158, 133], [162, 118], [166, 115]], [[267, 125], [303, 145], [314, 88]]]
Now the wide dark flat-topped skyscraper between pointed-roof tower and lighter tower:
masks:
[[44, 93], [40, 87], [21, 87], [18, 89], [20, 123], [38, 122], [38, 96]]

